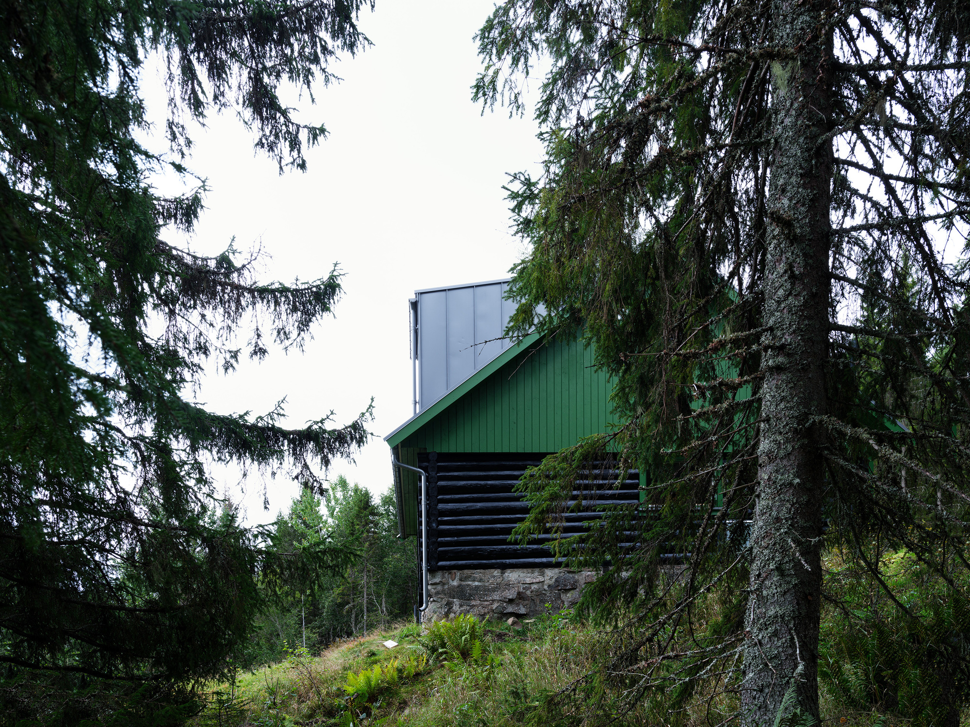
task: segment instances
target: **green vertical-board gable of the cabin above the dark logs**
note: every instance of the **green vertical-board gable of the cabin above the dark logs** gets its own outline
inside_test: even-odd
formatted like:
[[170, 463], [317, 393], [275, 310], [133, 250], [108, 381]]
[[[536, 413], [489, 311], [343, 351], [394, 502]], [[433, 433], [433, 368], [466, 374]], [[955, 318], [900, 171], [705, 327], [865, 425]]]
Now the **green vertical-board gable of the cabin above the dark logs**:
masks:
[[[420, 427], [388, 437], [395, 455], [414, 465], [420, 451], [550, 453], [609, 429], [612, 384], [592, 348], [554, 338], [509, 353]], [[396, 484], [402, 535], [414, 535], [417, 475], [399, 470]]]

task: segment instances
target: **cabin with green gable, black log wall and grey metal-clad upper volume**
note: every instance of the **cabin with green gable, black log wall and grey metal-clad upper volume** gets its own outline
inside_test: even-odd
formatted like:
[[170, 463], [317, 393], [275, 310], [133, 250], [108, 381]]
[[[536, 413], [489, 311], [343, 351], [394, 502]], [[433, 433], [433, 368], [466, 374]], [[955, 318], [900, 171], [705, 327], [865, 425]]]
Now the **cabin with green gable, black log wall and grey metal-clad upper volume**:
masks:
[[[537, 334], [498, 342], [506, 283], [417, 291], [410, 301], [416, 413], [385, 441], [394, 458], [427, 473], [430, 571], [554, 567], [541, 543], [508, 542], [528, 512], [514, 487], [541, 458], [610, 428], [611, 382], [592, 349]], [[461, 359], [468, 351], [470, 362]], [[396, 466], [394, 475], [401, 536], [420, 537], [419, 477]], [[615, 488], [618, 476], [607, 467], [590, 479], [609, 483], [602, 499], [637, 502], [639, 473]], [[595, 517], [589, 508], [602, 499], [567, 515], [566, 532]]]

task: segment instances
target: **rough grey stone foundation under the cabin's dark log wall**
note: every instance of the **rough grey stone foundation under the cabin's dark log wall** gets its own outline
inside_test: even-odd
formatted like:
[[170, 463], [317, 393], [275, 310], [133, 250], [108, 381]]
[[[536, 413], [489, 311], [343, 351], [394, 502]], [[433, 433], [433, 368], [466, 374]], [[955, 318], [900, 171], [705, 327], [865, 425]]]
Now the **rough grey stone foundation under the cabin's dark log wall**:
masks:
[[458, 614], [494, 617], [537, 616], [570, 608], [596, 574], [565, 568], [510, 568], [428, 573], [428, 610], [422, 620]]

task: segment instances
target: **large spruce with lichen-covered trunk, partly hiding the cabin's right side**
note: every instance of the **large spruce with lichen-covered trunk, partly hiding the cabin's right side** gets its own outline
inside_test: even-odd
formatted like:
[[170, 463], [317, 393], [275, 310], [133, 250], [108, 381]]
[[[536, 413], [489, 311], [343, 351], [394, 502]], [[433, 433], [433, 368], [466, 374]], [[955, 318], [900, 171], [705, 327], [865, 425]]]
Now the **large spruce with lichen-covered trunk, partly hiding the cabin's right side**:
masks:
[[968, 41], [944, 0], [507, 0], [481, 29], [486, 107], [524, 111], [548, 68], [543, 174], [509, 184], [513, 325], [595, 343], [621, 425], [524, 480], [519, 534], [555, 529], [590, 460], [649, 472], [558, 545], [611, 566], [587, 606], [635, 614], [628, 708], [817, 719], [826, 547], [906, 618], [888, 550], [965, 598]]

